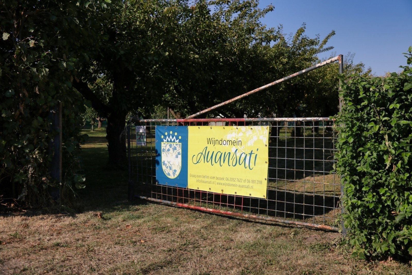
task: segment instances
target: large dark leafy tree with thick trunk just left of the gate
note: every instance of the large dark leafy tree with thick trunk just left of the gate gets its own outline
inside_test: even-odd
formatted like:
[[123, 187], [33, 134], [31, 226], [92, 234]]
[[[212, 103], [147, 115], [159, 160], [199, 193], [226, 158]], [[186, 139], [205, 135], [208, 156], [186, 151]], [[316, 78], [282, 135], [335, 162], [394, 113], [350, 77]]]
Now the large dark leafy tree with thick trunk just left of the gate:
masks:
[[[244, 89], [242, 78], [258, 57], [249, 48], [264, 43], [269, 49], [276, 36], [259, 23], [273, 7], [260, 11], [257, 1], [226, 3], [112, 1], [89, 13], [90, 20], [104, 18], [104, 24], [93, 24], [100, 36], [85, 45], [90, 62], [73, 74], [72, 83], [108, 120], [110, 167], [124, 167], [129, 111], [148, 115], [162, 103], [170, 104], [172, 114], [187, 115]], [[91, 87], [102, 77], [112, 85], [107, 97]]]

